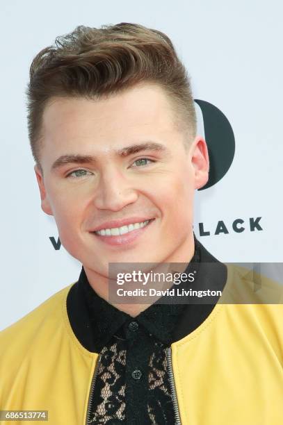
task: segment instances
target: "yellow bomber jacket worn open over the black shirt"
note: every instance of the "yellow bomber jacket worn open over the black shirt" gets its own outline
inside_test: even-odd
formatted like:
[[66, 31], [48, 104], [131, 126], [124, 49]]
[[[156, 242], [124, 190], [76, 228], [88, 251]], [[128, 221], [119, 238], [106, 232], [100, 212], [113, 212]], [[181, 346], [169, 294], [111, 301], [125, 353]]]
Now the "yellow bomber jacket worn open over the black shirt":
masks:
[[[264, 278], [254, 291], [245, 269], [227, 269], [223, 296], [209, 316], [170, 349], [176, 424], [281, 425], [282, 287]], [[70, 324], [66, 300], [73, 285], [1, 331], [0, 410], [48, 410], [49, 425], [87, 423], [98, 354]], [[241, 290], [245, 299], [259, 302], [263, 294], [268, 303], [238, 303]]]

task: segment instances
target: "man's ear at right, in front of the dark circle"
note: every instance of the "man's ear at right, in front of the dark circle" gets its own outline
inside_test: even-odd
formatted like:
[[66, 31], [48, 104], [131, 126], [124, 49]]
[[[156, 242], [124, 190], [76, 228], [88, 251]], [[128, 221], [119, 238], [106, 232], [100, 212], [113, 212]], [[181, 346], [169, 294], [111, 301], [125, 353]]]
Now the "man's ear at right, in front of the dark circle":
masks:
[[200, 136], [191, 146], [191, 163], [195, 173], [195, 189], [200, 189], [209, 179], [209, 152], [207, 143]]

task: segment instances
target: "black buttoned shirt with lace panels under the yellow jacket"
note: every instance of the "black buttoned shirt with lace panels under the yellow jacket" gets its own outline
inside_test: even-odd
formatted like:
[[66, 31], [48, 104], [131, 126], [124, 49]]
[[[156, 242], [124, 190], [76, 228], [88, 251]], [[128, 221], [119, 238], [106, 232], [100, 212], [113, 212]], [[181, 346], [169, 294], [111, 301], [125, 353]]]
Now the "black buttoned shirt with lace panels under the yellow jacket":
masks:
[[88, 423], [175, 424], [168, 347], [184, 304], [154, 303], [133, 318], [99, 297], [85, 273], [80, 280], [100, 353]]

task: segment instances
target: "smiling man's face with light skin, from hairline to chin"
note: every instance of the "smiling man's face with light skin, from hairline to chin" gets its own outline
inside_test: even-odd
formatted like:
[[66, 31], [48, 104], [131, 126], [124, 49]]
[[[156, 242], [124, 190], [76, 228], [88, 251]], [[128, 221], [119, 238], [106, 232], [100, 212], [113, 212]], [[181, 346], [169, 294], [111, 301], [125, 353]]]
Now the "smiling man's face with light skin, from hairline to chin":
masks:
[[108, 263], [190, 259], [207, 146], [196, 138], [185, 149], [159, 86], [99, 101], [54, 98], [42, 129], [42, 172], [35, 167], [42, 209], [86, 269], [107, 276]]

